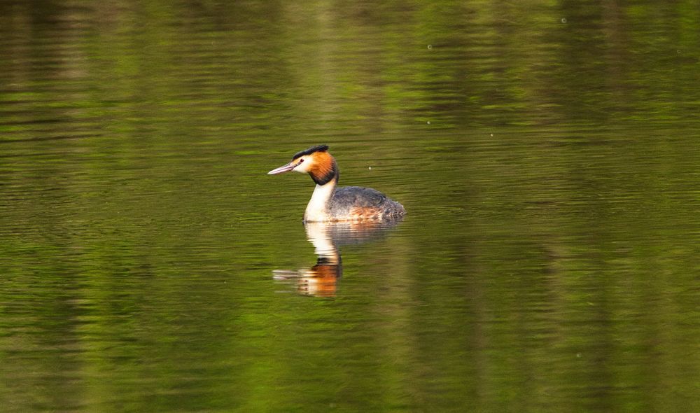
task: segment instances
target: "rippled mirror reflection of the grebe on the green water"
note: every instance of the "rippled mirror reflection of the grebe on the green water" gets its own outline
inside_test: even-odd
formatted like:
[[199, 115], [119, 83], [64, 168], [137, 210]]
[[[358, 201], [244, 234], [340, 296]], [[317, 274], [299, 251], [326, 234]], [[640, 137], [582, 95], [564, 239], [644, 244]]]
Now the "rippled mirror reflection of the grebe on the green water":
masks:
[[314, 245], [316, 265], [298, 270], [275, 269], [277, 281], [293, 283], [300, 294], [335, 297], [337, 283], [343, 273], [339, 248], [364, 244], [384, 237], [401, 219], [381, 222], [304, 223], [307, 239]]

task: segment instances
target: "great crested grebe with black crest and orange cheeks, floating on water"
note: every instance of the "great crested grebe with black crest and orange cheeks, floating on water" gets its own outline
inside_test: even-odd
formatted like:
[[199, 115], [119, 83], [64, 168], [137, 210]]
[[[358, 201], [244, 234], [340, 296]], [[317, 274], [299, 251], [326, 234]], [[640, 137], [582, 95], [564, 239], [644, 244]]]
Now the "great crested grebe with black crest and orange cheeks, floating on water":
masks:
[[401, 204], [372, 188], [343, 186], [336, 188], [339, 178], [335, 158], [328, 145], [318, 145], [301, 151], [292, 162], [267, 172], [307, 172], [316, 183], [314, 194], [304, 212], [304, 222], [384, 221], [406, 214]]

